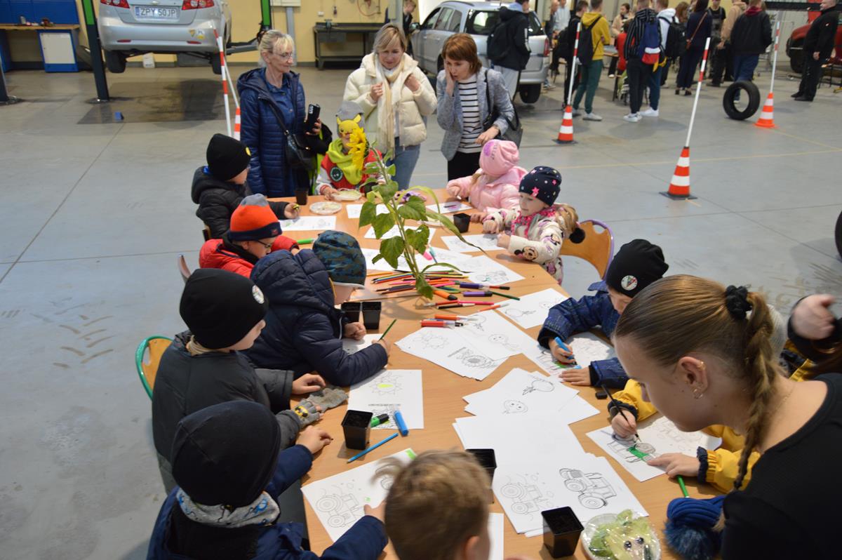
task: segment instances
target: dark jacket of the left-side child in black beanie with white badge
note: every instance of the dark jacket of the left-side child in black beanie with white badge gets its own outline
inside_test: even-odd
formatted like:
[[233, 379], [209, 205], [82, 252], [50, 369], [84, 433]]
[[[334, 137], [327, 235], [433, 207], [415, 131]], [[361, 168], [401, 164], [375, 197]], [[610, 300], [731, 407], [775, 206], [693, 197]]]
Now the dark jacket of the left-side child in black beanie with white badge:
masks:
[[202, 408], [229, 401], [268, 407], [280, 425], [282, 449], [294, 445], [301, 424], [290, 408], [292, 372], [255, 370], [242, 352], [190, 355], [190, 332], [175, 335], [161, 356], [152, 389], [152, 439], [158, 453], [170, 451], [179, 420]]

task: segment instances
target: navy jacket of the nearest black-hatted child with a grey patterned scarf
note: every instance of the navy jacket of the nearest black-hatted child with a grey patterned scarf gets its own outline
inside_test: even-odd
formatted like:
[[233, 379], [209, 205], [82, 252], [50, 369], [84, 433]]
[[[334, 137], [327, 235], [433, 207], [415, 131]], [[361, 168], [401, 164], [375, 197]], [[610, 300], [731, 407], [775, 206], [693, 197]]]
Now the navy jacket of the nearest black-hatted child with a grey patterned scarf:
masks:
[[[266, 492], [277, 498], [290, 484], [303, 477], [312, 465], [310, 451], [302, 445], [280, 452]], [[147, 560], [190, 560], [184, 554], [170, 552], [168, 548], [170, 515], [176, 504], [173, 488], [161, 506], [149, 539]], [[226, 531], [221, 529], [220, 531]], [[258, 550], [254, 560], [317, 560], [319, 556], [301, 548], [304, 525], [301, 523], [276, 523], [269, 525], [258, 536]], [[376, 560], [386, 547], [386, 530], [380, 520], [371, 515], [363, 516], [351, 525], [331, 547], [322, 552], [322, 560]]]

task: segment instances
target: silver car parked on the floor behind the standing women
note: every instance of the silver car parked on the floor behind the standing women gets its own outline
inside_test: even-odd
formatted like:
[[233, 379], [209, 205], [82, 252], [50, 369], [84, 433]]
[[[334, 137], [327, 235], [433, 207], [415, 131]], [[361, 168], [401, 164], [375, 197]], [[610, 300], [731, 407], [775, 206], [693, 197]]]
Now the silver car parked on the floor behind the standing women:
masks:
[[[490, 67], [486, 56], [486, 41], [497, 24], [499, 9], [504, 5], [508, 3], [466, 0], [441, 3], [412, 35], [413, 56], [418, 60], [418, 66], [424, 72], [438, 74], [445, 67], [445, 61], [441, 58], [441, 47], [445, 40], [455, 33], [467, 33], [477, 42], [482, 65]], [[524, 103], [535, 103], [541, 97], [541, 86], [551, 62], [550, 40], [544, 34], [541, 20], [535, 12], [529, 13], [529, 35], [532, 55], [525, 70], [520, 72], [519, 92]]]

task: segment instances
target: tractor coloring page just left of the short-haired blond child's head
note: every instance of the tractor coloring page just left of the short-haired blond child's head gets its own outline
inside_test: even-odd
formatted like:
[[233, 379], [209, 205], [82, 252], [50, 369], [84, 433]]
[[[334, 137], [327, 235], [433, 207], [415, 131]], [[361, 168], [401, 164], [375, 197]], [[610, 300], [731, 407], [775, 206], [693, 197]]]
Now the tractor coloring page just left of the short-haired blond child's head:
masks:
[[[415, 453], [411, 449], [405, 449], [390, 457], [406, 464], [415, 458]], [[333, 541], [365, 515], [365, 504], [374, 507], [386, 498], [392, 479], [377, 476], [377, 468], [381, 466], [382, 461], [381, 459], [352, 468], [301, 488], [301, 493]]]

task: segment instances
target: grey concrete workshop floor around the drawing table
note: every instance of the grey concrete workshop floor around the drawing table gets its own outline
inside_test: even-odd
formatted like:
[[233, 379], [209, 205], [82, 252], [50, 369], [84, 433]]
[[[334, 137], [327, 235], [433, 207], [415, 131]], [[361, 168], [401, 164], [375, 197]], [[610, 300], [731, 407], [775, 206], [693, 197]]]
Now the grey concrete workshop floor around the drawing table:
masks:
[[[349, 71], [301, 71], [307, 101], [333, 115]], [[806, 294], [842, 295], [833, 241], [842, 97], [822, 88], [813, 104], [792, 102], [797, 83], [779, 76], [775, 130], [727, 120], [722, 89], [702, 92], [690, 157], [698, 200], [658, 195], [685, 141], [692, 98], [668, 90], [663, 116], [628, 124], [605, 75], [594, 109], [605, 120], [574, 120], [574, 146], [552, 142], [559, 89], [519, 105], [521, 164], [559, 168], [561, 200], [583, 219], [607, 221], [618, 247], [634, 237], [659, 243], [669, 274], [751, 285], [784, 313]], [[195, 266], [201, 243], [190, 179], [208, 138], [225, 126], [173, 120], [167, 96], [161, 107], [123, 99], [94, 108], [98, 120], [86, 102], [89, 73], [7, 79], [27, 102], [0, 107], [0, 557], [145, 557], [163, 491], [134, 350], [149, 334], [184, 328], [175, 261], [184, 253]], [[113, 94], [125, 98], [213, 79], [205, 68], [109, 75]], [[109, 122], [115, 110], [124, 122]], [[160, 121], [150, 122], [156, 110]], [[201, 110], [222, 115], [221, 100]], [[418, 184], [444, 186], [441, 136], [432, 120]], [[594, 280], [583, 262], [568, 259], [566, 269], [575, 296]]]

